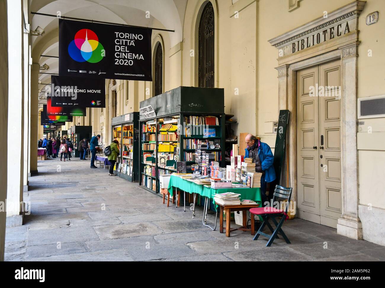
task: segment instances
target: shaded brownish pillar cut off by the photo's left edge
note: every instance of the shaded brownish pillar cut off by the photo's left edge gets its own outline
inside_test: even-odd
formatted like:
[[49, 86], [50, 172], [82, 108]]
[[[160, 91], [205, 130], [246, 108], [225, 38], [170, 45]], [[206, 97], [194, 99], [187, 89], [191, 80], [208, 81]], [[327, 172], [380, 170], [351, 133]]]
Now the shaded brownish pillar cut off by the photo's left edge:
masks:
[[[8, 23], [7, 23], [7, 1], [0, 1], [0, 135], [8, 134]], [[4, 142], [3, 142], [4, 143]], [[3, 145], [1, 148], [4, 148]], [[7, 198], [7, 149], [0, 149], [0, 261], [4, 261], [5, 248], [5, 199]]]

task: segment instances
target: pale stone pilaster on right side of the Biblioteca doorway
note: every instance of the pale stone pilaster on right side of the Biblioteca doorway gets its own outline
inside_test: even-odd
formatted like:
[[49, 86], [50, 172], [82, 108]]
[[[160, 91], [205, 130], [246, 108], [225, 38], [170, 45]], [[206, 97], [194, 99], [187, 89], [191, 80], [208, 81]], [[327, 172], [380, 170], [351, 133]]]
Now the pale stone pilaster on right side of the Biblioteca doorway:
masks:
[[[337, 233], [362, 239], [362, 223], [358, 217], [358, 155], [357, 155], [357, 57], [355, 42], [339, 47], [341, 50], [342, 97], [342, 215], [338, 218]], [[354, 153], [353, 153], [354, 151]]]

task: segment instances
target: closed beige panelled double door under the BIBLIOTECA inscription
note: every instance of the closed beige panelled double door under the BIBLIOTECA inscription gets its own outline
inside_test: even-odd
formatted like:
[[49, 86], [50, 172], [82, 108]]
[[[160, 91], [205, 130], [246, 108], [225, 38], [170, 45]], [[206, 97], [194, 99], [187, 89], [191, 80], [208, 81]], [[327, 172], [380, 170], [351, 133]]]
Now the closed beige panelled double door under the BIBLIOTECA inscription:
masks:
[[340, 60], [297, 72], [298, 217], [334, 228], [342, 203], [340, 75]]

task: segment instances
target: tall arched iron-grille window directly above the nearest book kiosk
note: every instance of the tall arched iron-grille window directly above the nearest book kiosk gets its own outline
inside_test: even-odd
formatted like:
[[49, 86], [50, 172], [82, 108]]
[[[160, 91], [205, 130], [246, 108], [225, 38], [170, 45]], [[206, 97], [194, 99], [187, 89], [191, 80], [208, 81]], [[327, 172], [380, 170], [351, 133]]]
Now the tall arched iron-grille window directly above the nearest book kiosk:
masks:
[[214, 87], [214, 8], [203, 8], [198, 32], [198, 86]]

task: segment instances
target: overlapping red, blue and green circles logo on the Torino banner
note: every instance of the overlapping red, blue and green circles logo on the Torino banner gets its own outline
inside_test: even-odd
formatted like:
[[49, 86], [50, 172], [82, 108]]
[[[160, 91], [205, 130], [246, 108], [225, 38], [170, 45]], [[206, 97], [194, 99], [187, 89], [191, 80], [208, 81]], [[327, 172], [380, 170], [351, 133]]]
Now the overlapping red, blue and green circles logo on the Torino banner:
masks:
[[105, 55], [104, 47], [94, 31], [81, 29], [68, 45], [68, 53], [77, 62], [97, 63]]

